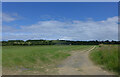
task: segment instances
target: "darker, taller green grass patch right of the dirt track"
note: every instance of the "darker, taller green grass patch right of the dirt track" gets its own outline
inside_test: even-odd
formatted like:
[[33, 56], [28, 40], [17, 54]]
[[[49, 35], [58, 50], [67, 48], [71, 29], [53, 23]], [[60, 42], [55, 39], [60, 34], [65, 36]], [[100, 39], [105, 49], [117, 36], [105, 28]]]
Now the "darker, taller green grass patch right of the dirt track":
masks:
[[104, 69], [120, 72], [118, 69], [118, 45], [99, 45], [91, 54], [91, 59]]

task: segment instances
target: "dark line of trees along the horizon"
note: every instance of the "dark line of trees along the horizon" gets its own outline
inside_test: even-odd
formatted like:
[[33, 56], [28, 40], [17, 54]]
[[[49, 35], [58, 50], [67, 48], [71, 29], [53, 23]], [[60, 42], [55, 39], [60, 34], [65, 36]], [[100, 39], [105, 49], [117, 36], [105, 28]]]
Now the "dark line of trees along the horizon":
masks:
[[31, 46], [31, 45], [99, 45], [99, 44], [120, 44], [120, 41], [70, 41], [70, 40], [8, 40], [1, 41], [2, 46]]

